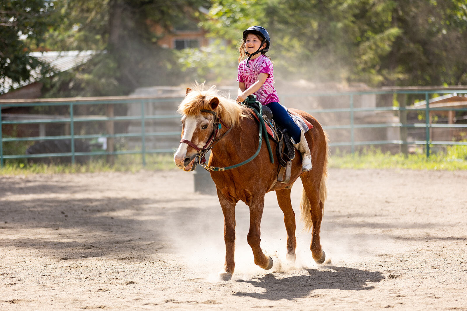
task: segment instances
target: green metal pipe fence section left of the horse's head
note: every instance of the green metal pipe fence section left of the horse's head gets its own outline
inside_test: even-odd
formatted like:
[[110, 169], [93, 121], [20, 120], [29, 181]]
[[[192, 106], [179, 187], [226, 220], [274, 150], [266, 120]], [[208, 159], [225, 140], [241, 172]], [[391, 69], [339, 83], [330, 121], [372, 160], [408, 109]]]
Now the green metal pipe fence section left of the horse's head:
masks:
[[[30, 159], [30, 158], [54, 158], [54, 157], [71, 157], [71, 163], [76, 162], [76, 156], [98, 156], [98, 155], [119, 155], [119, 154], [141, 154], [142, 162], [145, 164], [145, 157], [148, 153], [165, 153], [173, 152], [174, 148], [165, 149], [147, 149], [145, 140], [147, 137], [167, 137], [167, 136], [180, 136], [180, 131], [157, 131], [147, 132], [145, 125], [150, 121], [157, 121], [163, 119], [180, 119], [177, 113], [173, 112], [171, 115], [146, 115], [144, 111], [144, 104], [146, 103], [164, 103], [164, 102], [180, 102], [181, 97], [171, 98], [142, 98], [142, 97], [95, 97], [94, 99], [36, 99], [36, 100], [0, 100], [0, 107], [17, 108], [17, 107], [50, 107], [50, 106], [67, 106], [69, 111], [68, 117], [57, 118], [41, 118], [34, 120], [4, 120], [0, 109], [0, 166], [4, 165], [5, 159]], [[74, 107], [78, 105], [140, 105], [141, 114], [136, 116], [99, 116], [99, 117], [76, 117]], [[26, 115], [25, 115], [26, 116]], [[116, 134], [110, 133], [96, 133], [80, 135], [75, 133], [75, 124], [81, 122], [119, 122], [119, 121], [138, 121], [141, 124], [142, 131], [140, 132], [122, 132]], [[57, 135], [57, 136], [34, 136], [34, 137], [3, 137], [3, 128], [9, 124], [70, 124], [70, 135]], [[142, 142], [141, 150], [116, 150], [116, 151], [92, 151], [92, 152], [76, 152], [75, 140], [76, 139], [92, 139], [92, 138], [139, 138], [138, 141]], [[70, 140], [70, 152], [55, 152], [55, 153], [39, 153], [39, 154], [5, 154], [5, 142], [20, 142], [20, 141], [44, 141], [44, 140]]]

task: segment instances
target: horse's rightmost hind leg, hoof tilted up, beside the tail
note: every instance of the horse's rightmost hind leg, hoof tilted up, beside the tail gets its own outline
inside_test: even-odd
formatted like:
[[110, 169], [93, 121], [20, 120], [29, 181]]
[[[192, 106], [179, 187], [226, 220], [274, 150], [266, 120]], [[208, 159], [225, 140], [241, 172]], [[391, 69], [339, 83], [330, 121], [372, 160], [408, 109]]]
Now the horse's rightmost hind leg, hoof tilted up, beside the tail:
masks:
[[319, 239], [319, 231], [321, 229], [321, 220], [323, 219], [323, 202], [319, 199], [319, 181], [312, 175], [312, 172], [306, 172], [301, 176], [306, 198], [308, 199], [310, 208], [310, 217], [312, 222], [311, 243], [310, 250], [311, 256], [316, 263], [324, 263], [326, 255], [321, 248]]

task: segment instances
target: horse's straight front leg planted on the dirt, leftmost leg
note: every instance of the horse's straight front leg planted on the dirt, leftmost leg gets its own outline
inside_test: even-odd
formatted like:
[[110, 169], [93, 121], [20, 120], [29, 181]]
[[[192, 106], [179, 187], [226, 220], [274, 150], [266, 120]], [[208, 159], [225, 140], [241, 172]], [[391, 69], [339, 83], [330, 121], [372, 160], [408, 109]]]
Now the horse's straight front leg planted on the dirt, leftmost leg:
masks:
[[224, 242], [226, 243], [226, 261], [219, 276], [222, 280], [230, 280], [235, 269], [235, 205], [237, 202], [227, 200], [219, 190], [217, 195], [224, 214]]

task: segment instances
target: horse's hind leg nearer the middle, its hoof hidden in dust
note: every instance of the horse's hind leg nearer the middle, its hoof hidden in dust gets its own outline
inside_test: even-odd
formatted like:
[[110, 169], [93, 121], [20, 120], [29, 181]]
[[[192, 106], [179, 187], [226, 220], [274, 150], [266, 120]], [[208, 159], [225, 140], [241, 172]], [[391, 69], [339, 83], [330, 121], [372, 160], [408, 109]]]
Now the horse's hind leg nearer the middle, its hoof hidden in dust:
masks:
[[287, 230], [287, 259], [295, 261], [295, 249], [297, 240], [295, 238], [295, 213], [290, 201], [290, 189], [276, 190], [277, 203], [284, 213], [285, 230]]

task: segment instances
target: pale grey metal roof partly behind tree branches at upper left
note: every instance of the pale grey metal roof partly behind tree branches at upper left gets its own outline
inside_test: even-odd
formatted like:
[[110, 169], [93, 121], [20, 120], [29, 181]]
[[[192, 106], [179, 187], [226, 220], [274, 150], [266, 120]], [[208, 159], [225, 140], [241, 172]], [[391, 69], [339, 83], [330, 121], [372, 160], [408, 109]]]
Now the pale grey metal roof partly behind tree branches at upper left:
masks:
[[[88, 50], [88, 51], [51, 51], [51, 52], [32, 52], [29, 55], [34, 56], [38, 60], [42, 62], [47, 62], [50, 66], [57, 70], [58, 72], [66, 71], [71, 68], [74, 68], [78, 65], [81, 65], [92, 58], [93, 55], [97, 54], [98, 52]], [[10, 89], [17, 89], [21, 86], [28, 85], [30, 83], [34, 83], [43, 76], [41, 75], [40, 68], [30, 70], [30, 78], [26, 81], [22, 81], [21, 83], [13, 83], [13, 81], [8, 78], [1, 78], [0, 79], [0, 93], [7, 93]]]

